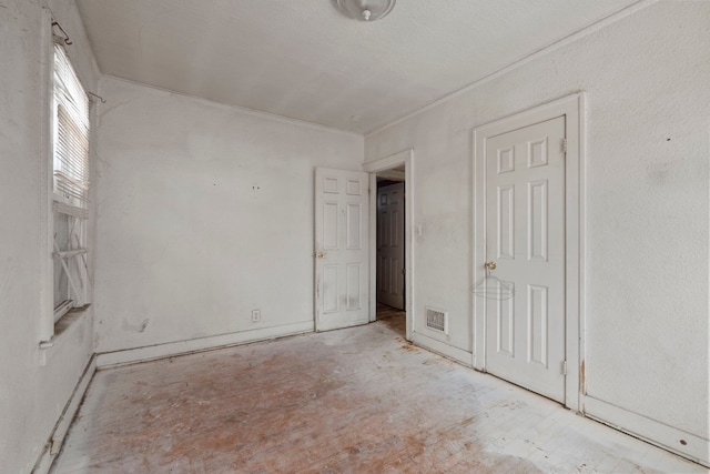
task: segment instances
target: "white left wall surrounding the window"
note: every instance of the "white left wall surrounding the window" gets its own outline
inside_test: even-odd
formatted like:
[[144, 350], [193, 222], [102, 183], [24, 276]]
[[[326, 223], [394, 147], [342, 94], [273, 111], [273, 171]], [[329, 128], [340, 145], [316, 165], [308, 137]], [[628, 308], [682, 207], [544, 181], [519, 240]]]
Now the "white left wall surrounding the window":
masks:
[[[92, 353], [91, 312], [40, 351], [43, 262], [41, 123], [49, 104], [42, 50], [53, 18], [74, 44], [69, 54], [89, 90], [98, 72], [73, 2], [10, 0], [0, 8], [0, 471], [30, 472]], [[50, 57], [51, 59], [51, 57]], [[51, 61], [44, 67], [50, 68]], [[51, 281], [49, 282], [51, 288]], [[43, 352], [43, 353], [42, 353]], [[47, 364], [40, 365], [40, 359]]]

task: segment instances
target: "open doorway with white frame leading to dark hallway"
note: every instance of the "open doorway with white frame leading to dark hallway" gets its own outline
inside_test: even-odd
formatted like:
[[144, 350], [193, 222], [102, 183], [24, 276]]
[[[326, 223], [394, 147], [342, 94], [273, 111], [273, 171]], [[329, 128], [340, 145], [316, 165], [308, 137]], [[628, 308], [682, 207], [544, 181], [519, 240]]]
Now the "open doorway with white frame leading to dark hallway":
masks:
[[414, 322], [413, 155], [413, 150], [405, 150], [363, 167], [371, 173], [372, 190], [371, 321], [387, 321], [409, 341]]

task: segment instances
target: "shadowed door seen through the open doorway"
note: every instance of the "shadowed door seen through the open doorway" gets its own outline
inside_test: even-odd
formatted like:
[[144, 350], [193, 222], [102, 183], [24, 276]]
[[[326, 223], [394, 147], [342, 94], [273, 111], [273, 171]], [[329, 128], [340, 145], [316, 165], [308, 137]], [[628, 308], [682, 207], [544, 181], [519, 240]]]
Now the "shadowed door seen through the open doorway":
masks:
[[404, 183], [377, 190], [377, 302], [404, 310]]

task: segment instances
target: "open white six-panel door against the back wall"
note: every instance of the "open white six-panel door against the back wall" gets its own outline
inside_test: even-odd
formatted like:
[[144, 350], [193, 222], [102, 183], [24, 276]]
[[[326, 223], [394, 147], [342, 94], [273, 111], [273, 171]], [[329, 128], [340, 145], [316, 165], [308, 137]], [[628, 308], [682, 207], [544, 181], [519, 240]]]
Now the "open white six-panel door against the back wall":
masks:
[[369, 321], [368, 181], [359, 171], [315, 170], [315, 330]]

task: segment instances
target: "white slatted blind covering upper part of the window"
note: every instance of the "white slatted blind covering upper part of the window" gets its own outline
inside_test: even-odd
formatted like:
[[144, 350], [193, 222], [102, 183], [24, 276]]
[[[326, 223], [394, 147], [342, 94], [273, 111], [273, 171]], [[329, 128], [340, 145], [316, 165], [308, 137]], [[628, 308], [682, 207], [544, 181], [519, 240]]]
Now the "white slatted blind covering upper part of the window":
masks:
[[54, 44], [54, 192], [85, 208], [89, 192], [89, 98], [64, 48]]

